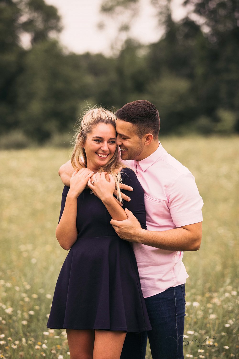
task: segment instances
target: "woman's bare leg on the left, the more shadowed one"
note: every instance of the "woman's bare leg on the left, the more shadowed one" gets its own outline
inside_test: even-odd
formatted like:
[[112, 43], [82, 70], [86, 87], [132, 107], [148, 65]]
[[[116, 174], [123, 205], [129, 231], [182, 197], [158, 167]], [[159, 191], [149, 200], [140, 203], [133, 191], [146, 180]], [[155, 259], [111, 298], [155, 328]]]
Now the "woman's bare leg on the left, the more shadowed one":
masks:
[[92, 359], [94, 330], [66, 329], [70, 359]]

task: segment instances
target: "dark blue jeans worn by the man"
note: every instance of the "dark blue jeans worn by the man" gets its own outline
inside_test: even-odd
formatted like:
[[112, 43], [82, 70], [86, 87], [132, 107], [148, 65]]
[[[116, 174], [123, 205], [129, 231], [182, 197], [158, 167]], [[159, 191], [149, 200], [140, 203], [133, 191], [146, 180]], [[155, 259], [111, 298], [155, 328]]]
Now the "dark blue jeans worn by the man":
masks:
[[145, 298], [152, 330], [127, 333], [120, 359], [145, 359], [147, 337], [153, 359], [183, 359], [185, 284]]

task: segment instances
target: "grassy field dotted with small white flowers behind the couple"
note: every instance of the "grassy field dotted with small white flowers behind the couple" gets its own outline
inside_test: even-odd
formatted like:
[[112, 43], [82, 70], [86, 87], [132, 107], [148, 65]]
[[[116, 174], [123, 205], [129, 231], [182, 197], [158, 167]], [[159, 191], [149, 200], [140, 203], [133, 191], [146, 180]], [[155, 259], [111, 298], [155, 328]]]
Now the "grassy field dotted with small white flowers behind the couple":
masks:
[[[238, 137], [165, 137], [162, 145], [190, 169], [204, 200], [201, 248], [183, 256], [185, 358], [239, 358]], [[66, 331], [46, 327], [67, 255], [55, 229], [57, 172], [69, 150], [9, 150], [0, 158], [0, 358], [70, 358]]]

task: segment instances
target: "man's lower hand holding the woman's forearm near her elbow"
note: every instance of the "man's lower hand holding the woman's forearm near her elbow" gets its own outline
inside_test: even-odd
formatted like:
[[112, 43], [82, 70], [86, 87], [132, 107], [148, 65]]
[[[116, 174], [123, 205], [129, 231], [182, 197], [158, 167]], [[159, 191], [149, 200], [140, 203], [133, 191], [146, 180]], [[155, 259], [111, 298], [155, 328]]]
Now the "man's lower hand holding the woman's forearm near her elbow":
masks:
[[128, 242], [137, 242], [135, 238], [139, 238], [139, 233], [142, 230], [141, 225], [130, 210], [125, 208], [125, 213], [128, 219], [123, 221], [111, 219], [110, 223], [121, 239], [125, 239]]

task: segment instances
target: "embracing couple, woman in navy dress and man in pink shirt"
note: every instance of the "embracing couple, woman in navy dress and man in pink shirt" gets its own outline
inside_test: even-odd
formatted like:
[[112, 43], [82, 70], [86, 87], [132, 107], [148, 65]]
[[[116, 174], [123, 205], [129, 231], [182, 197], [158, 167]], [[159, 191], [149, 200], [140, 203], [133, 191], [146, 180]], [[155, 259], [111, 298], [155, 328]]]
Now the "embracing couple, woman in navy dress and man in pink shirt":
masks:
[[191, 172], [158, 141], [156, 107], [85, 113], [64, 183], [56, 237], [70, 250], [48, 328], [71, 359], [183, 358], [183, 251], [200, 248], [202, 205]]

